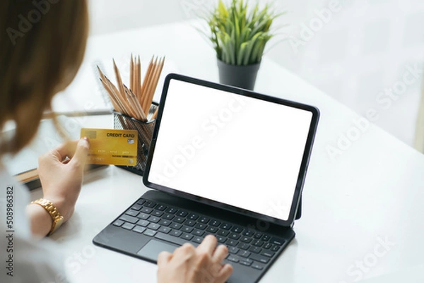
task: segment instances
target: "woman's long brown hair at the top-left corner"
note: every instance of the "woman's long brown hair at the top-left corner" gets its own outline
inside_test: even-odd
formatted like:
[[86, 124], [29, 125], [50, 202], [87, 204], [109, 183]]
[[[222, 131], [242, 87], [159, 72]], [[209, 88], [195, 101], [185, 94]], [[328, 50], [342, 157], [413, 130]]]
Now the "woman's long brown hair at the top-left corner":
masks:
[[42, 113], [66, 88], [83, 61], [88, 37], [86, 0], [1, 0], [0, 156], [16, 153], [37, 133]]

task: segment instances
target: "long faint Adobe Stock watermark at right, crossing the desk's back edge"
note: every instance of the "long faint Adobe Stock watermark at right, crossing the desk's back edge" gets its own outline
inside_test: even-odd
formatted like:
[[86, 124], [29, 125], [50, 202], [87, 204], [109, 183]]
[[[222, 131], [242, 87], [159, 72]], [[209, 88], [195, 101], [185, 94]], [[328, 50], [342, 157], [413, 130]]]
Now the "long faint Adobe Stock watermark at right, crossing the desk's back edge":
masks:
[[353, 120], [353, 125], [344, 133], [339, 134], [338, 139], [334, 143], [326, 145], [326, 152], [330, 159], [335, 160], [349, 150], [353, 143], [360, 140], [367, 132], [368, 128], [370, 128], [370, 124], [379, 120], [379, 114], [382, 110], [389, 109], [394, 102], [405, 94], [411, 85], [420, 82], [420, 78], [423, 74], [423, 66], [416, 63], [413, 65], [406, 65], [405, 68], [406, 71], [401, 76], [400, 80], [397, 80], [390, 88], [384, 88], [384, 90], [379, 92], [375, 97], [375, 102], [381, 109], [370, 107], [365, 112], [365, 116]]

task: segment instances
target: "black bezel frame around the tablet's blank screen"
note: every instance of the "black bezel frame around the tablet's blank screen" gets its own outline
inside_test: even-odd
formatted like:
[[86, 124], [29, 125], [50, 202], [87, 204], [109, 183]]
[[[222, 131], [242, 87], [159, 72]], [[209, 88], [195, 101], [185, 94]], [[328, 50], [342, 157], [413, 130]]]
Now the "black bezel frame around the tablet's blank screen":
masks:
[[[300, 170], [299, 170], [299, 175], [298, 175], [298, 181], [296, 183], [295, 193], [293, 194], [292, 206], [290, 207], [290, 214], [289, 214], [287, 220], [282, 220], [282, 219], [270, 217], [268, 215], [261, 215], [260, 213], [257, 213], [257, 212], [252, 212], [250, 210], [241, 209], [240, 207], [234, 207], [232, 205], [219, 203], [215, 200], [210, 200], [210, 199], [203, 198], [203, 197], [200, 197], [200, 196], [197, 196], [197, 195], [184, 193], [182, 191], [178, 191], [175, 188], [169, 188], [167, 186], [162, 186], [162, 185], [159, 185], [157, 183], [151, 183], [150, 181], [148, 181], [148, 174], [150, 173], [150, 169], [151, 169], [151, 162], [152, 162], [153, 153], [155, 151], [156, 140], [157, 140], [158, 131], [159, 131], [159, 128], [160, 128], [160, 121], [162, 119], [163, 109], [164, 109], [165, 103], [166, 103], [167, 90], [169, 88], [171, 80], [180, 80], [180, 81], [184, 81], [184, 82], [187, 82], [187, 83], [193, 83], [195, 85], [201, 85], [201, 86], [204, 86], [204, 87], [207, 87], [207, 88], [214, 88], [216, 90], [223, 90], [225, 92], [231, 92], [231, 93], [236, 94], [236, 95], [244, 95], [244, 96], [256, 98], [256, 99], [259, 99], [259, 100], [283, 104], [283, 105], [288, 106], [288, 107], [295, 107], [297, 109], [302, 109], [302, 110], [309, 111], [309, 112], [312, 113], [312, 120], [311, 120], [311, 124], [310, 124], [310, 130], [309, 130], [309, 133], [308, 133], [308, 136], [307, 136], [307, 143], [305, 145], [305, 151], [303, 152], [302, 162], [301, 162], [301, 165], [300, 165]], [[234, 87], [231, 87], [231, 86], [228, 86], [228, 85], [220, 85], [218, 83], [211, 83], [211, 82], [208, 82], [206, 80], [199, 80], [197, 78], [182, 76], [182, 75], [175, 74], [175, 73], [170, 73], [165, 78], [165, 83], [163, 85], [163, 91], [162, 91], [162, 96], [160, 98], [160, 104], [159, 105], [160, 106], [159, 106], [159, 110], [158, 110], [158, 117], [156, 119], [155, 129], [153, 131], [153, 138], [152, 138], [152, 142], [151, 142], [151, 147], [150, 147], [150, 150], [148, 152], [146, 170], [143, 174], [143, 183], [144, 183], [145, 186], [147, 186], [148, 188], [156, 189], [158, 191], [164, 191], [166, 193], [177, 195], [177, 196], [182, 197], [182, 198], [187, 198], [189, 200], [195, 200], [195, 201], [198, 201], [199, 203], [205, 203], [207, 205], [213, 205], [215, 207], [223, 208], [225, 210], [237, 212], [237, 213], [240, 213], [242, 215], [249, 215], [250, 217], [255, 217], [255, 218], [261, 219], [262, 221], [265, 221], [265, 222], [272, 222], [272, 223], [279, 224], [279, 225], [282, 225], [282, 226], [285, 226], [285, 227], [290, 227], [290, 226], [293, 225], [293, 222], [295, 220], [295, 216], [298, 212], [300, 198], [301, 198], [301, 195], [302, 195], [302, 188], [303, 188], [303, 185], [304, 185], [304, 182], [305, 182], [307, 167], [308, 167], [310, 155], [311, 155], [311, 152], [312, 152], [312, 145], [313, 145], [313, 142], [314, 142], [314, 137], [315, 137], [315, 134], [317, 132], [317, 125], [318, 125], [318, 120], [319, 120], [319, 110], [317, 109], [317, 107], [313, 107], [313, 106], [310, 106], [310, 105], [307, 105], [307, 104], [302, 104], [302, 103], [299, 103], [299, 102], [293, 102], [293, 101], [290, 101], [290, 100], [283, 100], [281, 98], [271, 97], [271, 96], [268, 96], [268, 95], [262, 95], [262, 94], [259, 94], [257, 92], [253, 92], [253, 91], [250, 91], [250, 90], [244, 90], [244, 89], [241, 89], [241, 88], [234, 88]]]

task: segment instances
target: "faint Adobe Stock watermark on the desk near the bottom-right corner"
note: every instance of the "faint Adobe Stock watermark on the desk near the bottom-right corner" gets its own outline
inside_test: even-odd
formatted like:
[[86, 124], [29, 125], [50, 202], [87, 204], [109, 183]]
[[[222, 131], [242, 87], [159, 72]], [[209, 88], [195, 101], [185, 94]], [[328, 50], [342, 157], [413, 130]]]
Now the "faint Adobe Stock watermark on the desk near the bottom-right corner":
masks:
[[387, 236], [384, 239], [381, 236], [377, 237], [377, 243], [369, 253], [366, 253], [363, 258], [355, 260], [355, 263], [348, 266], [346, 274], [348, 281], [340, 281], [338, 283], [357, 282], [364, 279], [365, 275], [381, 263], [391, 249], [396, 246], [396, 243], [391, 241]]

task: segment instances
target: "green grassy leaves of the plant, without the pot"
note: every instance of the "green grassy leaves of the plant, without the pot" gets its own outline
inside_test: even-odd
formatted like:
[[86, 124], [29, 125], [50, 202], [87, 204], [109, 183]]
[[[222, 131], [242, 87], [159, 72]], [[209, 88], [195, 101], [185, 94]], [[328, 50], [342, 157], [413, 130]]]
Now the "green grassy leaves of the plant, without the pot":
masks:
[[269, 4], [252, 9], [245, 0], [232, 0], [225, 6], [222, 0], [206, 16], [218, 59], [231, 65], [249, 65], [261, 61], [266, 43], [273, 37], [270, 31], [273, 20], [280, 16]]

